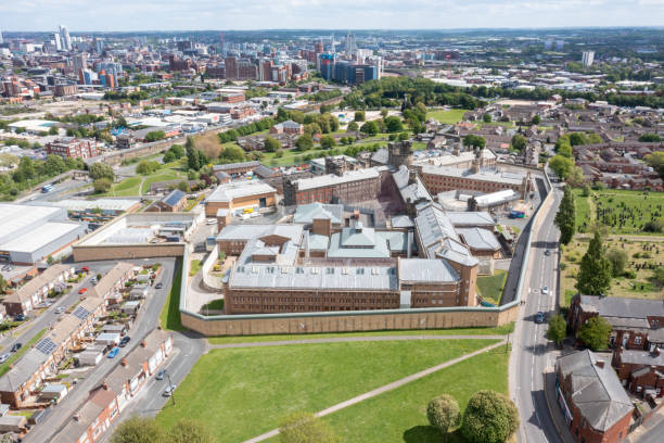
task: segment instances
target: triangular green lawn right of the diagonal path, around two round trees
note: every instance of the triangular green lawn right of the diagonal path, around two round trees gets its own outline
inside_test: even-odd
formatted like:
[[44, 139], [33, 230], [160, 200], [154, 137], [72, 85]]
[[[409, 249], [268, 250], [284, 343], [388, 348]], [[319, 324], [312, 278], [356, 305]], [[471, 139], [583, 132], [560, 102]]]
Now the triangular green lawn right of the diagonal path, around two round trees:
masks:
[[[509, 353], [505, 346], [477, 355], [431, 376], [405, 384], [324, 418], [344, 443], [440, 443], [443, 435], [429, 426], [426, 404], [450, 394], [461, 410], [471, 395], [484, 389], [508, 394]], [[454, 432], [450, 443], [465, 440]]]

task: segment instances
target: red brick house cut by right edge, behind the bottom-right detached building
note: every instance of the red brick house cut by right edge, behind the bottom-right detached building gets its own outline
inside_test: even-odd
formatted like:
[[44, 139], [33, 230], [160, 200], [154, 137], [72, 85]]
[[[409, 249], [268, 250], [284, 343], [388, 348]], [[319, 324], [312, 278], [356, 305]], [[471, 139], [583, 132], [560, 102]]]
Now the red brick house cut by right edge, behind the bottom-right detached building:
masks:
[[629, 392], [647, 397], [664, 396], [664, 354], [659, 346], [652, 351], [630, 351], [622, 346], [613, 354], [613, 367]]

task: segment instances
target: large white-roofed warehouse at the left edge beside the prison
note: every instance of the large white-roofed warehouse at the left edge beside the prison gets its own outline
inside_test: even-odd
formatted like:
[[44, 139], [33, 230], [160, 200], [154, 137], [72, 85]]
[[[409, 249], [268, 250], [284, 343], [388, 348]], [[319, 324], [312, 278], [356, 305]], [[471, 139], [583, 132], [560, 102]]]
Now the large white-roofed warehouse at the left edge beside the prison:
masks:
[[0, 203], [0, 262], [34, 265], [86, 233], [62, 207]]

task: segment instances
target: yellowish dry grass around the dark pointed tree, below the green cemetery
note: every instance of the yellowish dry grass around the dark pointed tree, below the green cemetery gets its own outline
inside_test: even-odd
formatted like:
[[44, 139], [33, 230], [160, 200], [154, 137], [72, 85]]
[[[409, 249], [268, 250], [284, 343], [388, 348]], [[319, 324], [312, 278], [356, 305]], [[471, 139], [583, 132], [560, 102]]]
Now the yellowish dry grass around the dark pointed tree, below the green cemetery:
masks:
[[[570, 244], [563, 248], [561, 260], [561, 299], [563, 306], [570, 305], [570, 300], [576, 294], [576, 275], [580, 260], [588, 249], [589, 238], [575, 237]], [[621, 238], [610, 238], [605, 241], [606, 250], [624, 251], [628, 256], [625, 270], [635, 271], [636, 278], [614, 278], [609, 290], [609, 296], [625, 296], [639, 299], [661, 299], [662, 289], [653, 284], [653, 270], [650, 265], [657, 266], [664, 263], [664, 242], [637, 241]], [[637, 270], [637, 265], [639, 268]]]

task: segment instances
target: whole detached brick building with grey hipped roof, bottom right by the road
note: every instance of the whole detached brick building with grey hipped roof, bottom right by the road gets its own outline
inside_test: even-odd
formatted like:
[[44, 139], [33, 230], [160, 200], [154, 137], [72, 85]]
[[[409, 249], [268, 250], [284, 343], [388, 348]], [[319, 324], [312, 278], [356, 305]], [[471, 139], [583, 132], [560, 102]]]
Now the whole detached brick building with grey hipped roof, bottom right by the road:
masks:
[[589, 350], [556, 362], [559, 406], [574, 439], [580, 443], [622, 442], [634, 405], [608, 362]]

